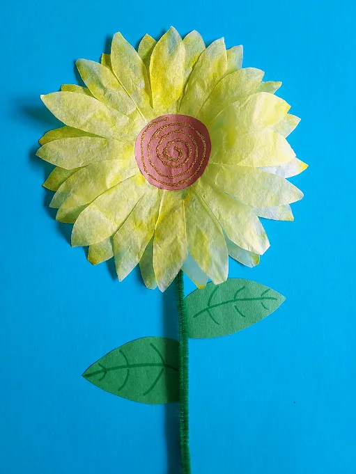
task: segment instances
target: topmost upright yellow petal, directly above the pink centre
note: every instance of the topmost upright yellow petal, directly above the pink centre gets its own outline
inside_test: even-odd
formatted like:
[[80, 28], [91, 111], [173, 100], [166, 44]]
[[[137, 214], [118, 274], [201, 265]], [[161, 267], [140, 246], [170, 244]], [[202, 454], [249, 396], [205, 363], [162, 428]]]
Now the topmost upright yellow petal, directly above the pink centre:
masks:
[[155, 113], [171, 111], [183, 94], [185, 47], [173, 26], [157, 42], [150, 57], [150, 86]]

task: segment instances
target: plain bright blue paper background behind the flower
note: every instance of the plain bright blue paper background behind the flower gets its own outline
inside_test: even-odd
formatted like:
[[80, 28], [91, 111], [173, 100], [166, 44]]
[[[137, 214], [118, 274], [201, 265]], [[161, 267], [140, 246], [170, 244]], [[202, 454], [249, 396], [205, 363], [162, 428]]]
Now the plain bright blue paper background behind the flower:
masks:
[[[245, 66], [284, 82], [309, 163], [294, 223], [230, 276], [285, 294], [263, 322], [190, 343], [194, 474], [351, 474], [355, 457], [355, 8], [302, 0], [17, 1], [1, 17], [0, 452], [3, 474], [176, 474], [177, 406], [102, 392], [80, 374], [144, 335], [176, 334], [173, 288], [92, 267], [47, 209], [36, 141], [57, 123], [40, 93], [75, 81], [121, 31], [137, 44], [173, 24], [245, 46]], [[187, 284], [187, 292], [192, 290]]]

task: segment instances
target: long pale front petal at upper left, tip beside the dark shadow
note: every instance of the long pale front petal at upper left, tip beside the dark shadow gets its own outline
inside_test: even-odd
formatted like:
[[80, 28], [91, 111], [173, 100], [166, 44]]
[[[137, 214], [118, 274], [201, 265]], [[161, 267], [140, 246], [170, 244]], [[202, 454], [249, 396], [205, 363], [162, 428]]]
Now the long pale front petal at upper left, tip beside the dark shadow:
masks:
[[132, 134], [132, 121], [122, 113], [109, 109], [99, 100], [74, 92], [41, 95], [47, 109], [56, 118], [85, 132], [121, 139]]

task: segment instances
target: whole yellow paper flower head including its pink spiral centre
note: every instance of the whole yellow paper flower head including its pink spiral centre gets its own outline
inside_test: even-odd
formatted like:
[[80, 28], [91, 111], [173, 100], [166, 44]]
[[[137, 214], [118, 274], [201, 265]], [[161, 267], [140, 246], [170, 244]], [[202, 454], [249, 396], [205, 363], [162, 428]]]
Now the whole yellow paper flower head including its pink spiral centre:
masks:
[[101, 63], [76, 63], [86, 87], [42, 95], [65, 126], [40, 139], [56, 165], [56, 219], [119, 280], [139, 263], [164, 291], [180, 269], [198, 287], [222, 283], [229, 255], [249, 267], [270, 245], [259, 217], [291, 221], [302, 192], [285, 178], [307, 165], [286, 136], [299, 123], [274, 95], [279, 82], [242, 68], [242, 46], [208, 47], [171, 28], [138, 52], [116, 33]]

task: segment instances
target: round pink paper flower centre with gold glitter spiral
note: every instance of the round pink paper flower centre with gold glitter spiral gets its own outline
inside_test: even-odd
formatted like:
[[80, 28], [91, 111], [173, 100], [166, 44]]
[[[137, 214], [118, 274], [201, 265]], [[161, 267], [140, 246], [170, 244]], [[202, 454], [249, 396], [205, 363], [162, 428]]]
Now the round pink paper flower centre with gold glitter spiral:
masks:
[[184, 189], [203, 174], [211, 143], [206, 126], [194, 117], [170, 114], [152, 120], [137, 136], [141, 173], [161, 189]]

